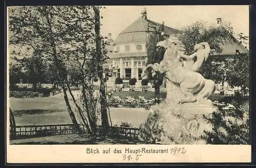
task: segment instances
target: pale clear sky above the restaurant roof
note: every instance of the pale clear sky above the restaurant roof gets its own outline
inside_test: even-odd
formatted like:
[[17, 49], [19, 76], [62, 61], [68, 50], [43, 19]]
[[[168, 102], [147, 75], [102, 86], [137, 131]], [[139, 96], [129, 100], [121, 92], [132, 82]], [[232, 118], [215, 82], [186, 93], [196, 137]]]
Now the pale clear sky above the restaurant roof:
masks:
[[116, 39], [118, 34], [130, 26], [141, 16], [146, 8], [147, 18], [164, 25], [180, 29], [184, 26], [203, 20], [215, 24], [216, 18], [228, 21], [233, 32], [249, 35], [249, 6], [245, 5], [215, 5], [215, 6], [105, 6], [101, 11], [101, 32], [103, 36], [112, 34]]

